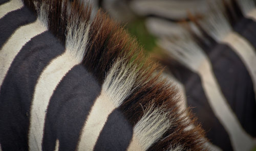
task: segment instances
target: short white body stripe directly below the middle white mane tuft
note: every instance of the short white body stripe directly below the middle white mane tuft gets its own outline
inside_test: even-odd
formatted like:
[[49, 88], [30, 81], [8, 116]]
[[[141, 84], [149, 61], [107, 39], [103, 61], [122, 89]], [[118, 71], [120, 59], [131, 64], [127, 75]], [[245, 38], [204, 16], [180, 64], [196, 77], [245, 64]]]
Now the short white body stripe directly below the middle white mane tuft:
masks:
[[110, 98], [101, 92], [82, 129], [78, 150], [93, 150], [106, 120], [115, 108]]

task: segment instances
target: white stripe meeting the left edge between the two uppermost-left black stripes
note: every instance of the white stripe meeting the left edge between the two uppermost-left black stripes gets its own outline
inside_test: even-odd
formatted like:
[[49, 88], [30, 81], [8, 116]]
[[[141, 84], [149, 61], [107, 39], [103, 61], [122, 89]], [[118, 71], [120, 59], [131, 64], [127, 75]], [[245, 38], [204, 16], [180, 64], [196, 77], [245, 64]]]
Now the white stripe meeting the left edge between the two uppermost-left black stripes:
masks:
[[9, 67], [20, 49], [34, 36], [45, 32], [47, 29], [39, 20], [18, 28], [0, 50], [0, 86], [7, 74]]

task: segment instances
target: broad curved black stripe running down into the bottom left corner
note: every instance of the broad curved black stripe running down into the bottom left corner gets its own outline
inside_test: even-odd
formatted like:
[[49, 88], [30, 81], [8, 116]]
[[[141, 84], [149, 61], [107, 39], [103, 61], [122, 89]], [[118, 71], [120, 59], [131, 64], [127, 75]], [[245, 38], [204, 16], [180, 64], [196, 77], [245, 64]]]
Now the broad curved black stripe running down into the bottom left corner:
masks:
[[64, 52], [50, 32], [32, 38], [9, 68], [0, 91], [0, 143], [3, 150], [28, 150], [30, 105], [35, 85], [49, 62]]

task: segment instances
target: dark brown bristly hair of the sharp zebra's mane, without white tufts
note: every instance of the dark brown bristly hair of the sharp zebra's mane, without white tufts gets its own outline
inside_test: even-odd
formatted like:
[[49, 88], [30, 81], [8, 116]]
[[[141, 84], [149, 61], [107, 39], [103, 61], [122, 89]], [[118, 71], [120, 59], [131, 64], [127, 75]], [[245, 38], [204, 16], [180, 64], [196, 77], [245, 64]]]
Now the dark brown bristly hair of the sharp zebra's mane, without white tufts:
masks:
[[[66, 43], [68, 22], [76, 18], [78, 22], [90, 24], [88, 45], [82, 64], [100, 84], [120, 58], [125, 64], [139, 67], [132, 88], [134, 90], [119, 109], [134, 126], [143, 116], [147, 105], [154, 102], [154, 107], [163, 107], [173, 122], [172, 127], [148, 150], [168, 150], [179, 145], [186, 150], [207, 150], [203, 130], [188, 110], [180, 111], [178, 91], [172, 83], [161, 78], [162, 68], [145, 57], [136, 40], [106, 13], [98, 10], [93, 17], [91, 7], [78, 0], [24, 2], [34, 12], [38, 12], [36, 10], [42, 3], [46, 4], [46, 10], [49, 11], [49, 30], [63, 45]], [[80, 36], [84, 36], [83, 33]], [[187, 129], [191, 125], [193, 127]]]

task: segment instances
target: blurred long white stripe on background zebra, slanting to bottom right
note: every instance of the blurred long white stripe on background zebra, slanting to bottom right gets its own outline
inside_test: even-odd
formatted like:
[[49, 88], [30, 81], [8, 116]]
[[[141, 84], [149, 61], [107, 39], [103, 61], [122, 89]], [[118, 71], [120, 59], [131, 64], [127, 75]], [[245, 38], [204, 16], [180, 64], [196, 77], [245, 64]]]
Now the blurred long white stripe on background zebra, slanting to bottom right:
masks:
[[198, 69], [202, 86], [208, 98], [209, 105], [217, 118], [227, 130], [234, 150], [249, 150], [253, 146], [252, 138], [243, 130], [236, 115], [228, 106], [227, 101], [220, 91], [217, 80], [211, 69], [208, 59]]

